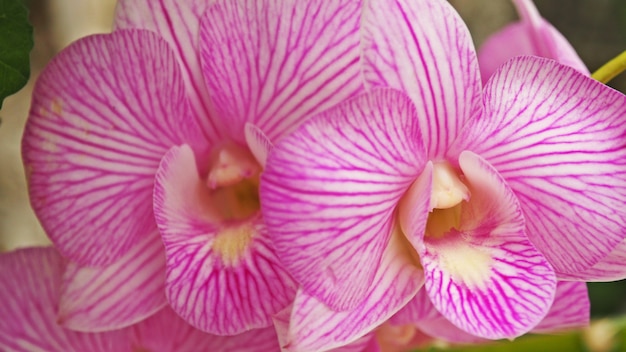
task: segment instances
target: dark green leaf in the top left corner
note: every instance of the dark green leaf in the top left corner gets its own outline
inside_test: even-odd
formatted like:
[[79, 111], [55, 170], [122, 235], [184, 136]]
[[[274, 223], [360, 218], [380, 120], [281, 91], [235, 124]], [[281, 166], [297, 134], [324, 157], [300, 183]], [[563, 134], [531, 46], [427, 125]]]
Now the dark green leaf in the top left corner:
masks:
[[24, 0], [0, 0], [0, 108], [28, 81], [33, 27]]

